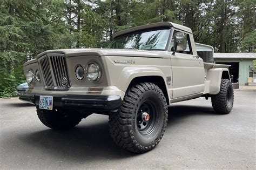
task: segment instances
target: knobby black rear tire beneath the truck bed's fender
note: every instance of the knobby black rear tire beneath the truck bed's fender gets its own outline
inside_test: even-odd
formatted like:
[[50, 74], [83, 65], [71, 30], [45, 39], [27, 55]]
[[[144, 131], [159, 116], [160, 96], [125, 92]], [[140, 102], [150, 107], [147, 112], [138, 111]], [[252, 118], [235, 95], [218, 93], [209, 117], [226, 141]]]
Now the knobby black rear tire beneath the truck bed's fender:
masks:
[[231, 112], [234, 103], [233, 85], [228, 79], [221, 79], [220, 91], [218, 94], [212, 95], [213, 110], [220, 114], [228, 114]]

